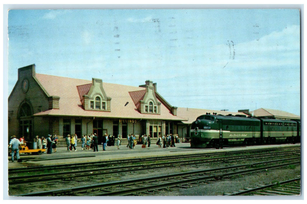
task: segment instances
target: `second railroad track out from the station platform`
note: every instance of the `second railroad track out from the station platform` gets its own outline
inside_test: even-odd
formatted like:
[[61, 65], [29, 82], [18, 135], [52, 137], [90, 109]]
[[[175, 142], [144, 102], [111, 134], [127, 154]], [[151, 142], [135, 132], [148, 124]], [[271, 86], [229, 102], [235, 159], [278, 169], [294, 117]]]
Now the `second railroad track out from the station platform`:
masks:
[[[125, 166], [113, 166], [113, 167], [102, 167], [102, 168], [87, 168], [77, 171], [64, 171], [57, 172], [56, 177], [54, 177], [54, 173], [44, 173], [42, 175], [26, 175], [26, 176], [10, 176], [9, 184], [22, 184], [22, 183], [39, 183], [42, 181], [49, 181], [52, 179], [56, 180], [69, 180], [78, 177], [86, 177], [86, 176], [94, 176], [94, 175], [110, 175], [117, 174], [122, 172], [130, 172], [130, 171], [144, 171], [149, 169], [158, 169], [158, 168], [169, 168], [175, 166], [183, 166], [183, 165], [196, 165], [196, 164], [204, 164], [204, 163], [213, 163], [213, 162], [231, 162], [231, 161], [240, 161], [246, 159], [257, 158], [265, 158], [265, 157], [274, 157], [274, 156], [289, 156], [293, 154], [300, 153], [299, 150], [289, 150], [282, 152], [272, 152], [272, 153], [258, 153], [251, 155], [236, 155], [236, 156], [227, 156], [227, 157], [215, 157], [215, 158], [200, 158], [200, 159], [189, 159], [189, 160], [180, 160], [180, 161], [170, 161], [170, 162], [157, 162], [157, 163], [148, 163], [148, 164], [138, 164], [138, 165], [125, 165]], [[189, 158], [189, 157], [188, 157]], [[91, 174], [88, 174], [88, 172]], [[37, 179], [37, 176], [40, 179]]]

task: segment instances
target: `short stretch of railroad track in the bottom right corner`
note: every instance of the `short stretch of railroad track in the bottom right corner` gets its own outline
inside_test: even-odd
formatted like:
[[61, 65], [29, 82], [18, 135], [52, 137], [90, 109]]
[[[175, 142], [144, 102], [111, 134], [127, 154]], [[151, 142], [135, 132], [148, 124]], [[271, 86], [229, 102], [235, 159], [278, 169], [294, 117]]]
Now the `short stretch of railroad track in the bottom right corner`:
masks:
[[301, 195], [301, 176], [224, 195]]

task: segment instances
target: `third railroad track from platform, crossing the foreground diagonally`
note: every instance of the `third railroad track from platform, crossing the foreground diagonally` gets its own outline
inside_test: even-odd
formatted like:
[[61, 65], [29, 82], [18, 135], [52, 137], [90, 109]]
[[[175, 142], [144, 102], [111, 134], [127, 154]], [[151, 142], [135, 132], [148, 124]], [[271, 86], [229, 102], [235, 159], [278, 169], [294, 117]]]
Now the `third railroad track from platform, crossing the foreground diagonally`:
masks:
[[[267, 169], [281, 168], [288, 165], [299, 164], [300, 157], [294, 157], [265, 162], [234, 165], [228, 167], [181, 172], [161, 176], [151, 176], [140, 179], [122, 180], [110, 183], [99, 183], [95, 185], [57, 189], [52, 191], [28, 193], [15, 196], [110, 196], [140, 195], [141, 193], [150, 194], [150, 191], [154, 190], [170, 187], [182, 187], [183, 185], [190, 185], [192, 183], [220, 180], [225, 177], [228, 178], [235, 175], [243, 175]], [[259, 165], [262, 165], [262, 167], [255, 167]]]

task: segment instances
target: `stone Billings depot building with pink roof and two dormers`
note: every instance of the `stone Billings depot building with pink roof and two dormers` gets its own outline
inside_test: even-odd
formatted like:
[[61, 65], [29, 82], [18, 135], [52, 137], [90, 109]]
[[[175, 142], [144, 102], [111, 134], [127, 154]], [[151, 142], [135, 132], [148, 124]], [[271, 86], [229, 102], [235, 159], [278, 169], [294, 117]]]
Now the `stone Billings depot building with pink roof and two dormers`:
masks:
[[18, 80], [8, 98], [8, 136], [96, 133], [127, 138], [146, 134], [177, 134], [177, 107], [158, 92], [157, 84], [139, 87], [37, 74], [35, 65], [18, 69]]

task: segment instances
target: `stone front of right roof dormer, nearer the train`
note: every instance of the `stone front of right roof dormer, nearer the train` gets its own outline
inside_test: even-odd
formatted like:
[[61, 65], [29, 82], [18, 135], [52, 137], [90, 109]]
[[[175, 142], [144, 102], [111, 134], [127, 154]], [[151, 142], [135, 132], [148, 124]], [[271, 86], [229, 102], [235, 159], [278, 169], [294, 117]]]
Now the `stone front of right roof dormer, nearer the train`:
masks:
[[161, 103], [157, 100], [155, 94], [155, 87], [152, 81], [145, 81], [146, 93], [142, 100], [140, 100], [139, 111], [147, 114], [160, 114]]

